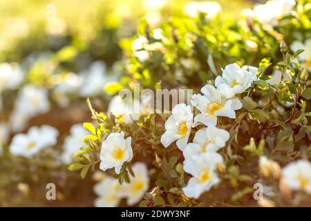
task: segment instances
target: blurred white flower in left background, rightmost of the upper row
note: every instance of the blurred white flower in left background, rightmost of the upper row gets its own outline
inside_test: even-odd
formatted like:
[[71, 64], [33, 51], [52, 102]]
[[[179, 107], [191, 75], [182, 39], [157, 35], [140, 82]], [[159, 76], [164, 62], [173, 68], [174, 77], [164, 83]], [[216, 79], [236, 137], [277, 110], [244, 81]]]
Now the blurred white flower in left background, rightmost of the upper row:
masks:
[[106, 83], [113, 80], [106, 73], [106, 64], [102, 61], [95, 61], [91, 67], [82, 72], [82, 86], [79, 95], [82, 97], [92, 97], [104, 93]]

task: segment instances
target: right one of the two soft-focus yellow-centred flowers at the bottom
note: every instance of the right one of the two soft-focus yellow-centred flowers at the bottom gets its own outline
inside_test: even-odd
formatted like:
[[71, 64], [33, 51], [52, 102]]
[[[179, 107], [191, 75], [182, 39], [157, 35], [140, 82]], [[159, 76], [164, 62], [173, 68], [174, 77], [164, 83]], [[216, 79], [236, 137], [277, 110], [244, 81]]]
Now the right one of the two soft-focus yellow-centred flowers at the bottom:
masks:
[[135, 177], [129, 175], [130, 182], [122, 183], [122, 196], [126, 197], [129, 206], [138, 203], [149, 188], [147, 166], [142, 162], [135, 162], [132, 166]]

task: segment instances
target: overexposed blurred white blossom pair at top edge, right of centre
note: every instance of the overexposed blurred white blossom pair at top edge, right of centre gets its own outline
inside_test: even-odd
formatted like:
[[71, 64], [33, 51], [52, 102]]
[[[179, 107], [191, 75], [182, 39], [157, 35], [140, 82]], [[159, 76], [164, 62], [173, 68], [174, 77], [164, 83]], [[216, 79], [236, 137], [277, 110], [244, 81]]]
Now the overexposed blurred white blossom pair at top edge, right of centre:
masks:
[[190, 1], [184, 10], [189, 17], [198, 17], [199, 13], [206, 13], [207, 19], [212, 19], [221, 12], [221, 6], [216, 1]]

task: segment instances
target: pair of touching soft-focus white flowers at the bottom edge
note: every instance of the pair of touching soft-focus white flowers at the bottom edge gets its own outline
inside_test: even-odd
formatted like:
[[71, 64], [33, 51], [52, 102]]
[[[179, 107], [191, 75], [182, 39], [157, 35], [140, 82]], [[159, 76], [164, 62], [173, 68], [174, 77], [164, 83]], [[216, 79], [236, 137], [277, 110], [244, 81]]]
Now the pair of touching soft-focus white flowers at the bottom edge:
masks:
[[94, 192], [98, 195], [94, 204], [97, 207], [115, 207], [122, 198], [126, 198], [126, 203], [131, 206], [138, 203], [144, 193], [149, 189], [149, 175], [147, 166], [141, 162], [136, 162], [132, 166], [134, 177], [129, 175], [130, 182], [120, 182], [113, 177], [104, 179], [95, 184]]

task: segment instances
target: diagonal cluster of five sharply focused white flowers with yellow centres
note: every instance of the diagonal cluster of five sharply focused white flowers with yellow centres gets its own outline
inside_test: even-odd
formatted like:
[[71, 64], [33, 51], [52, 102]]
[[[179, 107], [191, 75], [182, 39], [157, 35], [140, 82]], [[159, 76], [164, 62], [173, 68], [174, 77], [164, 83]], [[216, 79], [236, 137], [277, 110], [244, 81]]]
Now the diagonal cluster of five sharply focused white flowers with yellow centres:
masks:
[[[223, 163], [223, 157], [216, 153], [229, 140], [229, 133], [216, 128], [218, 117], [236, 118], [235, 111], [242, 108], [242, 103], [236, 95], [244, 93], [256, 81], [257, 68], [240, 67], [229, 64], [223, 69], [223, 75], [215, 80], [216, 88], [205, 85], [201, 94], [192, 96], [192, 106], [177, 104], [171, 116], [165, 122], [165, 133], [161, 137], [164, 147], [176, 142], [185, 157], [184, 169], [192, 177], [183, 189], [189, 198], [198, 198], [211, 186], [218, 184], [216, 169]], [[194, 117], [191, 108], [197, 108], [200, 113]], [[191, 128], [199, 124], [201, 128], [188, 143]]]

